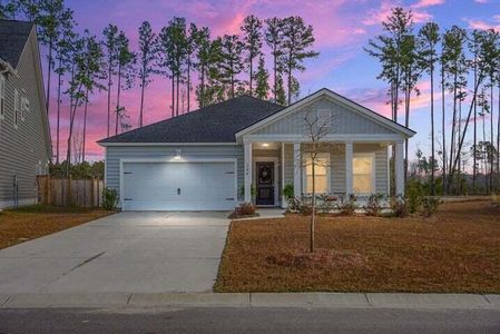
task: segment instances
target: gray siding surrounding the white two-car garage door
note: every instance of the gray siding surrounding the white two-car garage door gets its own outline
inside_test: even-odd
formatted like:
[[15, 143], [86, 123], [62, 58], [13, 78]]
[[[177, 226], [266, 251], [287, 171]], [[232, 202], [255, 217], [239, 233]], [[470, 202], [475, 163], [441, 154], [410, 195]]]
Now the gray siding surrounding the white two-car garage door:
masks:
[[244, 185], [243, 146], [214, 145], [214, 146], [108, 146], [106, 148], [106, 186], [120, 191], [120, 159], [168, 159], [182, 150], [185, 159], [237, 159], [238, 199], [242, 200], [241, 189]]

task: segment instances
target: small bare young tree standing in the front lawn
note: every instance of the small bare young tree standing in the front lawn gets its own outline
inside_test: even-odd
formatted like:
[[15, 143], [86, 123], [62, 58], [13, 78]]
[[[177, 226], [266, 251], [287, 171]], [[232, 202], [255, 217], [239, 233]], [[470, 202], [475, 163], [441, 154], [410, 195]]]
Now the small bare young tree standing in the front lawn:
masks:
[[[318, 110], [307, 110], [304, 117], [304, 137], [308, 144], [304, 146], [304, 156], [307, 157], [305, 167], [312, 171], [312, 214], [310, 220], [310, 252], [315, 250], [315, 226], [316, 226], [316, 168], [325, 164], [320, 159], [321, 153], [326, 151], [330, 147], [324, 138], [332, 130], [332, 118], [330, 112], [324, 114]], [[325, 167], [325, 166], [323, 166]]]

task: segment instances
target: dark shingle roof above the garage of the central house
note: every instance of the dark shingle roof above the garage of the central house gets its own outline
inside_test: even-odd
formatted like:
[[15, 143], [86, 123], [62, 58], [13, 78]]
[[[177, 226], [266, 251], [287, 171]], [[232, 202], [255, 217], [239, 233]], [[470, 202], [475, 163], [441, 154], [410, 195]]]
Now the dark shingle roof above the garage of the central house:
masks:
[[235, 143], [236, 132], [283, 108], [244, 95], [99, 143]]

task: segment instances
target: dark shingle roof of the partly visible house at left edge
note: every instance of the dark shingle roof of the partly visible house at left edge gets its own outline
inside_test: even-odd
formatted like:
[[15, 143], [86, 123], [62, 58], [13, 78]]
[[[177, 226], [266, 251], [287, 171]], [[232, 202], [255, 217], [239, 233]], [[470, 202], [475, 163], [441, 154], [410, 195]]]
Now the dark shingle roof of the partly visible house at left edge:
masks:
[[32, 28], [32, 22], [0, 20], [0, 58], [13, 68], [18, 66]]

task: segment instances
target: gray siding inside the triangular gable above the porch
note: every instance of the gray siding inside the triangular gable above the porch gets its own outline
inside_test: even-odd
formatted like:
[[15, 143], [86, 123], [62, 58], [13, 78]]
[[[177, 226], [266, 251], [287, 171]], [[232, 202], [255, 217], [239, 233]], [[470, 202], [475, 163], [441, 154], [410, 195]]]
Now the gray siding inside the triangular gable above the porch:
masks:
[[317, 111], [320, 119], [330, 119], [332, 134], [393, 134], [394, 131], [382, 126], [359, 111], [347, 108], [340, 102], [323, 98], [310, 106], [305, 106], [293, 114], [273, 121], [254, 135], [290, 135], [304, 134], [306, 130], [304, 118], [306, 112]]

